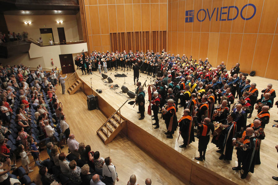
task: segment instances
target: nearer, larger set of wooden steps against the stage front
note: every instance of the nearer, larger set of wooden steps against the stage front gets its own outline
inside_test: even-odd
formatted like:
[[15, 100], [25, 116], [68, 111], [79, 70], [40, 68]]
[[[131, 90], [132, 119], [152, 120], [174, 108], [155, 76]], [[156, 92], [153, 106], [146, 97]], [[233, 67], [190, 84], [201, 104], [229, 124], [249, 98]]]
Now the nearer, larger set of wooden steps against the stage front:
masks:
[[110, 143], [126, 125], [119, 112], [113, 113], [97, 131], [97, 135], [106, 145]]

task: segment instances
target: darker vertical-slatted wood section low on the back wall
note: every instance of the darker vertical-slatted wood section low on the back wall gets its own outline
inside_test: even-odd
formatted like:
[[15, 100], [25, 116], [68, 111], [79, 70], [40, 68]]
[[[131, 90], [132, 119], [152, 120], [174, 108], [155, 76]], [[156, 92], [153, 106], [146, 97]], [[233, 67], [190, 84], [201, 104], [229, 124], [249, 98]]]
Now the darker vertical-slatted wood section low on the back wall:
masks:
[[[167, 31], [136, 31], [110, 33], [111, 51], [144, 51], [160, 52], [166, 48]], [[151, 49], [150, 49], [151, 48]]]

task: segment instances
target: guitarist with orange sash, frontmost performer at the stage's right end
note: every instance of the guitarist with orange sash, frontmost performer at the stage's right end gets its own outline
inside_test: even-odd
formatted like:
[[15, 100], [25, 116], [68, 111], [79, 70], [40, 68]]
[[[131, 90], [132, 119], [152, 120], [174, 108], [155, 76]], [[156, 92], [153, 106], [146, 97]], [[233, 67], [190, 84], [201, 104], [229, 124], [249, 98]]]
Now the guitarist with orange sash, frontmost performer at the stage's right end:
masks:
[[251, 173], [254, 173], [255, 156], [253, 153], [256, 150], [258, 139], [255, 138], [254, 129], [252, 127], [246, 128], [245, 131], [236, 132], [233, 138], [234, 145], [237, 143], [237, 138], [240, 138], [239, 139], [240, 143], [238, 144], [239, 146], [236, 147], [238, 166], [233, 167], [232, 169], [233, 170], [242, 169], [244, 173], [241, 175], [240, 178], [245, 179], [249, 171]]

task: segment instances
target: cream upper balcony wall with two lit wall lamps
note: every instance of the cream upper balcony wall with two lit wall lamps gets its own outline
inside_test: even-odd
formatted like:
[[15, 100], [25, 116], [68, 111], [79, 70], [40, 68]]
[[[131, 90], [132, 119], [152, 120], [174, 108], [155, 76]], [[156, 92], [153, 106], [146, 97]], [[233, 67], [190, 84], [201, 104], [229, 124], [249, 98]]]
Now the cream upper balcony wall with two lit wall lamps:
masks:
[[[76, 15], [5, 15], [8, 30], [20, 33], [28, 32], [28, 37], [38, 40], [40, 38], [40, 28], [52, 28], [55, 42], [59, 42], [57, 27], [64, 27], [66, 41], [78, 41], [78, 26]], [[56, 23], [63, 20], [63, 23]], [[24, 21], [31, 21], [30, 25]], [[80, 20], [79, 20], [80, 21]]]

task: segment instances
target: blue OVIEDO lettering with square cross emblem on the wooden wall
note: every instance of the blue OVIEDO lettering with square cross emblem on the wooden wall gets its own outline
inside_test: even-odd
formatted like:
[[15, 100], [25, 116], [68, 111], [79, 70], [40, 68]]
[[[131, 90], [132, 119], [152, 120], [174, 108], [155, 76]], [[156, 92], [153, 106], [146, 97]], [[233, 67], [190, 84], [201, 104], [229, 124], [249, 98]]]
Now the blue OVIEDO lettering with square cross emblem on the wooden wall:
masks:
[[[248, 11], [252, 11], [253, 14], [250, 17], [246, 17], [246, 13], [243, 12], [243, 10], [246, 8]], [[245, 12], [246, 12], [245, 10]], [[211, 11], [211, 12], [209, 12]], [[240, 17], [243, 20], [250, 20], [252, 19], [256, 14], [256, 6], [254, 4], [246, 4], [242, 7], [242, 9], [238, 9], [237, 6], [223, 6], [223, 7], [217, 7], [210, 9], [200, 9], [198, 10], [196, 14], [196, 18], [199, 22], [203, 22], [207, 17], [209, 21], [216, 20], [216, 21], [232, 21], [236, 18], [238, 18], [238, 14], [240, 14]], [[193, 23], [194, 21], [194, 10], [187, 10], [185, 11], [185, 22], [186, 23]]]

